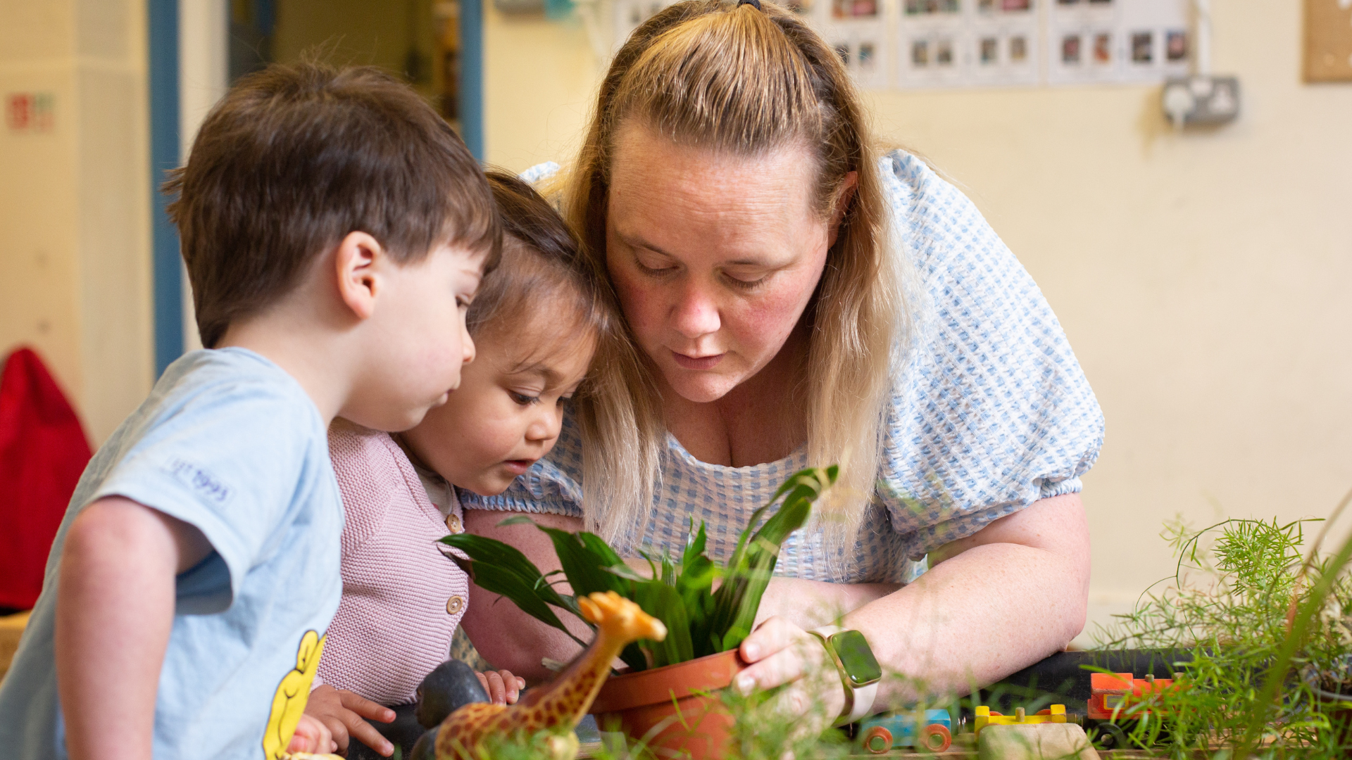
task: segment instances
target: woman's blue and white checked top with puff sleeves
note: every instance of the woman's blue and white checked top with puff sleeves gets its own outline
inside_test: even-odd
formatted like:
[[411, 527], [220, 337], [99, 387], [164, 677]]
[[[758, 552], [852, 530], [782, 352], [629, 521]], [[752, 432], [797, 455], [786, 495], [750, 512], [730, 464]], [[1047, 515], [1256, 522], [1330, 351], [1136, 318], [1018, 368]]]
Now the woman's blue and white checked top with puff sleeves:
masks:
[[[914, 156], [895, 151], [880, 168], [895, 234], [930, 302], [926, 325], [898, 372], [877, 498], [853, 552], [829, 561], [819, 533], [798, 531], [776, 575], [907, 581], [910, 560], [1037, 499], [1078, 492], [1103, 444], [1103, 414], [1056, 315], [976, 206]], [[465, 492], [462, 503], [581, 517], [581, 454], [565, 415], [548, 457], [502, 495]], [[806, 446], [733, 468], [702, 462], [668, 435], [653, 508], [627, 549], [679, 552], [695, 518], [707, 525], [710, 556], [723, 560], [750, 513], [803, 467]]]

